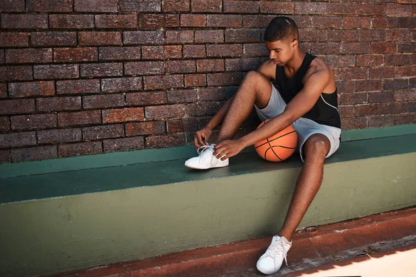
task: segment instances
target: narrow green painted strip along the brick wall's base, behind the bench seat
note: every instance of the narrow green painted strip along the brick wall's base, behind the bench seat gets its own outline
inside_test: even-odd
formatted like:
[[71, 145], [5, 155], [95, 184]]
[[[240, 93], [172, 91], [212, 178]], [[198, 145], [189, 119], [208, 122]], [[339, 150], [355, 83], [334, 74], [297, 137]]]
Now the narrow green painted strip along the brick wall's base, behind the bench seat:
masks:
[[[342, 141], [346, 142], [390, 136], [402, 136], [406, 134], [416, 134], [416, 124], [374, 129], [347, 130], [343, 131], [341, 136]], [[246, 148], [243, 152], [251, 151], [252, 148], [250, 147]], [[52, 172], [128, 166], [137, 163], [153, 163], [158, 161], [189, 159], [190, 157], [195, 156], [195, 154], [195, 149], [192, 146], [180, 146], [175, 148], [148, 149], [62, 159], [49, 159], [45, 161], [6, 163], [0, 165], [0, 179], [25, 175], [40, 175]]]

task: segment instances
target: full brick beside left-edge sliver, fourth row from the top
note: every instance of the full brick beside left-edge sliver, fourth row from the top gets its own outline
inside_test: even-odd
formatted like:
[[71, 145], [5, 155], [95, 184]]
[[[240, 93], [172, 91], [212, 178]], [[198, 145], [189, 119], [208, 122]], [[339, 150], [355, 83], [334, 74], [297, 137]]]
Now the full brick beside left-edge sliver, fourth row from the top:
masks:
[[52, 62], [51, 48], [6, 49], [6, 63], [47, 63]]

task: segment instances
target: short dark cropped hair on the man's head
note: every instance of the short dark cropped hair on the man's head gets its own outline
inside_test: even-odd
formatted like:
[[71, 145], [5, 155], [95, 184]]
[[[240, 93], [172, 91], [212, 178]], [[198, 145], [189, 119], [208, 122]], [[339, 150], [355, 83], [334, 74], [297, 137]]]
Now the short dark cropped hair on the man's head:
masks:
[[289, 17], [275, 17], [264, 32], [266, 42], [277, 42], [287, 38], [298, 39], [297, 25]]

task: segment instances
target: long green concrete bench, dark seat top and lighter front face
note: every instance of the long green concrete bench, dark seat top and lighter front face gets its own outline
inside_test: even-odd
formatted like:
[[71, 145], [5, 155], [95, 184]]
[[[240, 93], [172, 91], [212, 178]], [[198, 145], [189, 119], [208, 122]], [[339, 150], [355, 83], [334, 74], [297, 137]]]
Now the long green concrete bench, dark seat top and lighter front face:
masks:
[[[416, 204], [416, 135], [342, 143], [301, 226]], [[252, 152], [0, 179], [1, 276], [53, 274], [272, 235], [302, 163]]]

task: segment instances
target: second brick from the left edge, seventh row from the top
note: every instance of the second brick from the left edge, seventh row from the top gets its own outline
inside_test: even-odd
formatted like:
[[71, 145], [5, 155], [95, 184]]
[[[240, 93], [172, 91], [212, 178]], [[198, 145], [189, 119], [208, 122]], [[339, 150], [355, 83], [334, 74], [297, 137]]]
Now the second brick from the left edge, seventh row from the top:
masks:
[[52, 97], [37, 98], [37, 111], [76, 111], [81, 109], [81, 98], [76, 97]]

